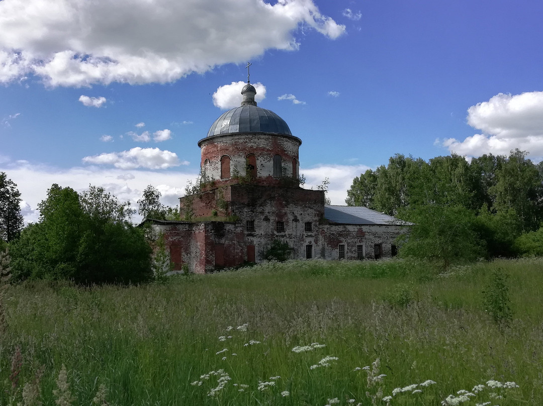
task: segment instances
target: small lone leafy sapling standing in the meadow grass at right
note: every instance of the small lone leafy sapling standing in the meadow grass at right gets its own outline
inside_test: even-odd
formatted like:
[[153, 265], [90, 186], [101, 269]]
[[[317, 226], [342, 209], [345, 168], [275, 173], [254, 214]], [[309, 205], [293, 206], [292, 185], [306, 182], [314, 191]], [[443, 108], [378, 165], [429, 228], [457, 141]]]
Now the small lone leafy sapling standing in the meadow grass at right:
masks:
[[507, 279], [508, 275], [501, 268], [496, 268], [492, 271], [490, 282], [483, 290], [485, 310], [500, 328], [508, 326], [513, 319]]

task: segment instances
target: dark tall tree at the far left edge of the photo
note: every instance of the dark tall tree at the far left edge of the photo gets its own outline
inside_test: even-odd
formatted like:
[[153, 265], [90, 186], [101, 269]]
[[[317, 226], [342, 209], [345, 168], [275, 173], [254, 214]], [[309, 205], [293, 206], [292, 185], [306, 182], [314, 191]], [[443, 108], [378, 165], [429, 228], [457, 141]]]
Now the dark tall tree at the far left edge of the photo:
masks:
[[21, 193], [17, 185], [0, 172], [0, 240], [10, 242], [17, 238], [23, 227]]

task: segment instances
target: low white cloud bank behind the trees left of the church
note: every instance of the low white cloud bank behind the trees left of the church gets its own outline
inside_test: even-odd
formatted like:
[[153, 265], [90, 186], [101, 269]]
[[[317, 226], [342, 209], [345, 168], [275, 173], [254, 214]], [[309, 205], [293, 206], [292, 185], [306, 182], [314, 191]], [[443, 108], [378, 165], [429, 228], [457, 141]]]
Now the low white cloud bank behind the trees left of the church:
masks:
[[[60, 169], [18, 163], [0, 167], [0, 172], [8, 174], [9, 178], [17, 184], [23, 202], [21, 210], [26, 223], [39, 220], [37, 205], [46, 198], [47, 189], [53, 183], [62, 187], [71, 187], [78, 192], [89, 188], [89, 185], [102, 186], [106, 192], [112, 193], [121, 201], [129, 200], [133, 208], [137, 208], [137, 200], [141, 198], [147, 185], [153, 185], [162, 193], [161, 202], [168, 206], [178, 206], [179, 197], [185, 194], [188, 180], [194, 180], [198, 173], [190, 171], [153, 171], [153, 170], [126, 170], [117, 168], [70, 168]], [[133, 221], [141, 220], [137, 215]]]

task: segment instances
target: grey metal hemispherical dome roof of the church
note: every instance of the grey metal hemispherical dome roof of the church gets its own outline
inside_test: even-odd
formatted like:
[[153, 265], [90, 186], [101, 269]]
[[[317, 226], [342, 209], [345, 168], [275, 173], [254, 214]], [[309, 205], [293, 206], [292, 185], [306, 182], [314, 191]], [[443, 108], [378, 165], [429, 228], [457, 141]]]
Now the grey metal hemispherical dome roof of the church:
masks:
[[225, 112], [211, 125], [207, 137], [232, 132], [268, 132], [292, 136], [285, 120], [271, 110], [252, 104], [245, 104]]

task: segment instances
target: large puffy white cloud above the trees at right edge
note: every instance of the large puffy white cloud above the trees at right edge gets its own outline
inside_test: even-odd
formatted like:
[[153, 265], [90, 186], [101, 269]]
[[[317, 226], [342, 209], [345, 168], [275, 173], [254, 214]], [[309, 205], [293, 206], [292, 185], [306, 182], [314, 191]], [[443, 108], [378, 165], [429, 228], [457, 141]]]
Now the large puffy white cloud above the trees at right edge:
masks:
[[443, 140], [451, 152], [469, 157], [509, 155], [519, 148], [531, 157], [543, 156], [543, 92], [499, 93], [468, 109], [468, 124], [482, 134]]

